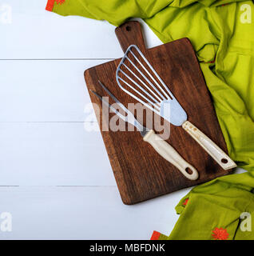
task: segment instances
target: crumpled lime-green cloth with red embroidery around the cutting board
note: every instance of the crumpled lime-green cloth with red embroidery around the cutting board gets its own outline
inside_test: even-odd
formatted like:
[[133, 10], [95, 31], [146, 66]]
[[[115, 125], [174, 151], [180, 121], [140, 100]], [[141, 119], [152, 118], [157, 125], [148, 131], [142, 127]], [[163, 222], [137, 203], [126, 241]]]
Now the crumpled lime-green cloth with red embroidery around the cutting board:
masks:
[[[52, 2], [52, 1], [51, 1]], [[58, 0], [59, 2], [59, 0]], [[196, 186], [176, 207], [181, 214], [165, 239], [253, 239], [240, 214], [254, 212], [254, 5], [232, 0], [65, 0], [61, 15], [105, 19], [119, 26], [143, 18], [162, 42], [189, 38], [196, 50], [230, 157], [248, 170]], [[188, 203], [183, 205], [185, 199]], [[219, 237], [218, 237], [219, 238]]]

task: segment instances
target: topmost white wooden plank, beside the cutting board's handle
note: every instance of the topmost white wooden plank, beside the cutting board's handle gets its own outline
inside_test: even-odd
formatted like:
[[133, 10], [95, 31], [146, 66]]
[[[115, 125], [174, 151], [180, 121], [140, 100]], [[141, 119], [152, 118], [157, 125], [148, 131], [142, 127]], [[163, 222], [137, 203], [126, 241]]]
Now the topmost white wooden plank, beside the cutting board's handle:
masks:
[[[45, 10], [46, 0], [8, 0], [10, 24], [1, 23], [0, 58], [120, 58], [115, 27], [83, 17]], [[148, 46], [161, 44], [145, 25]]]

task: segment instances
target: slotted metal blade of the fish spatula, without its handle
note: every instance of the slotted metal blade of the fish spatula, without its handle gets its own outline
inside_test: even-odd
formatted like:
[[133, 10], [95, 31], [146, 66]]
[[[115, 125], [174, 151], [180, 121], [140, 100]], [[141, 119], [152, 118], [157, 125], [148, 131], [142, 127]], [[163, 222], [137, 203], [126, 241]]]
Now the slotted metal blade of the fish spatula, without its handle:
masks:
[[181, 126], [187, 121], [185, 110], [137, 46], [131, 45], [126, 50], [117, 67], [116, 78], [121, 90], [174, 126]]

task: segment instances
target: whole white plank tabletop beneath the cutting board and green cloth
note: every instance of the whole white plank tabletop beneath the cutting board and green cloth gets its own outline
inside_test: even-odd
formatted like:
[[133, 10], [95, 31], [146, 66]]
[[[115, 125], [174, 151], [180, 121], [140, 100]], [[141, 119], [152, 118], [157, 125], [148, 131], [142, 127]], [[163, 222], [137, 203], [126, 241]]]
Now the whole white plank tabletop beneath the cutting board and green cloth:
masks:
[[[115, 27], [47, 12], [46, 0], [0, 0], [0, 18], [4, 5], [11, 20], [0, 22], [0, 214], [12, 214], [12, 231], [0, 230], [0, 239], [169, 234], [189, 190], [123, 205], [101, 134], [88, 129], [96, 123], [83, 73], [122, 56]], [[160, 45], [144, 28], [147, 45]]]

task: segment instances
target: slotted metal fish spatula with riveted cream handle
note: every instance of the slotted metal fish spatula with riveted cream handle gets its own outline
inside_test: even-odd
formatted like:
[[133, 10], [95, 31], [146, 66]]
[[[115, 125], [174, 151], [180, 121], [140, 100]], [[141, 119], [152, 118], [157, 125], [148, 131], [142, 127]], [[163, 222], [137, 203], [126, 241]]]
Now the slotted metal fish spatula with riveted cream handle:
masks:
[[188, 121], [185, 110], [136, 45], [126, 50], [117, 67], [116, 78], [125, 93], [174, 126], [182, 126], [224, 170], [236, 167], [236, 163], [219, 146]]

